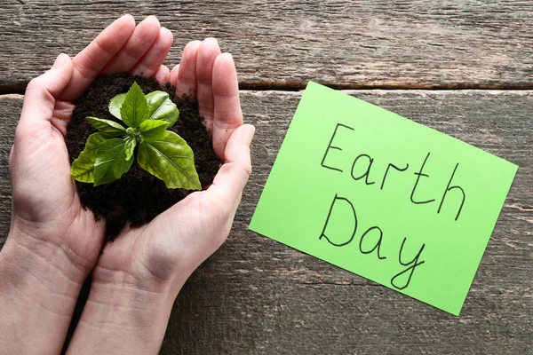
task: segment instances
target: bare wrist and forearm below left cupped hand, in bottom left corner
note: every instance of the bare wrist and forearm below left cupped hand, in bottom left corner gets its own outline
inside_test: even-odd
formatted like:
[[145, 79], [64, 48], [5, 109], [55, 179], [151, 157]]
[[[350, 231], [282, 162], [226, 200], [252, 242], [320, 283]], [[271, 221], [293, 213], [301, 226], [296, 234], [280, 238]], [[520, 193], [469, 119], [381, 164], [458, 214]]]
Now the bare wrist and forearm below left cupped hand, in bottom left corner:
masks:
[[[0, 349], [3, 353], [59, 353], [81, 288], [80, 272], [66, 272], [55, 248], [36, 254], [10, 233], [0, 251]], [[16, 327], [13, 325], [16, 324]], [[22, 341], [38, 339], [38, 341]]]

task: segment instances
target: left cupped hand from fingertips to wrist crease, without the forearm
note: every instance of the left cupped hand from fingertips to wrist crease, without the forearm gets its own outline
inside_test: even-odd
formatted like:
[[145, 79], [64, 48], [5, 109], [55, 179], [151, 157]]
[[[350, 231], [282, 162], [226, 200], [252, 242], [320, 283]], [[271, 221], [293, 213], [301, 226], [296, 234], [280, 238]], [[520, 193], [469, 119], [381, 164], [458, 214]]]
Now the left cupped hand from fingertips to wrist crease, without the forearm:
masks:
[[65, 136], [72, 102], [101, 73], [168, 77], [169, 69], [162, 63], [171, 43], [171, 31], [155, 17], [136, 26], [126, 15], [74, 59], [60, 54], [50, 70], [28, 84], [10, 157], [12, 231], [6, 248], [18, 243], [46, 257], [63, 256], [68, 263], [59, 263], [82, 280], [91, 272], [104, 224], [82, 208], [70, 177]]

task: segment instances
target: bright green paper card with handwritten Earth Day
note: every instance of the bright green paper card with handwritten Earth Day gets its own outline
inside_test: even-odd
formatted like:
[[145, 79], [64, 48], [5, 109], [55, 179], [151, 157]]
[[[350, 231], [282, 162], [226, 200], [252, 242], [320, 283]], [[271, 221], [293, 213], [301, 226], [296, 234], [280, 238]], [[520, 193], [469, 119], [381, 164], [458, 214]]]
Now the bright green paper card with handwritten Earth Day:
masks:
[[458, 315], [517, 169], [309, 83], [250, 229]]

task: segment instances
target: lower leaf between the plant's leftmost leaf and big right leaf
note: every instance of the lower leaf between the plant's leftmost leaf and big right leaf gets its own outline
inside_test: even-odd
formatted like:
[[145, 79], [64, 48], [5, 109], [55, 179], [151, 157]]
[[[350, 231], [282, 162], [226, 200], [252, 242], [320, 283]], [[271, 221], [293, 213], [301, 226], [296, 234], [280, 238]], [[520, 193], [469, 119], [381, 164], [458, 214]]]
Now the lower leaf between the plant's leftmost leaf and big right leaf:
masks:
[[126, 140], [108, 139], [98, 147], [94, 162], [94, 185], [110, 183], [130, 170], [133, 159], [126, 160]]

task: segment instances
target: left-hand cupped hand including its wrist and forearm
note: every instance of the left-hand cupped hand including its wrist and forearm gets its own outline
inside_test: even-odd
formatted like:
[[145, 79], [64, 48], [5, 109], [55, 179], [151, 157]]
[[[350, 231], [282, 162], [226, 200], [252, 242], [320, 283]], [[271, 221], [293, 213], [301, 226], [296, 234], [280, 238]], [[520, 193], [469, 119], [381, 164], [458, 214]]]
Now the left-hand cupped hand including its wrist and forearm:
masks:
[[[11, 231], [0, 253], [3, 351], [60, 352], [79, 289], [102, 247], [104, 224], [82, 208], [70, 177], [65, 135], [73, 100], [101, 73], [168, 78], [162, 63], [171, 43], [171, 32], [155, 17], [136, 27], [123, 16], [74, 59], [61, 54], [28, 84], [10, 157]], [[37, 348], [24, 339], [39, 339]]]

